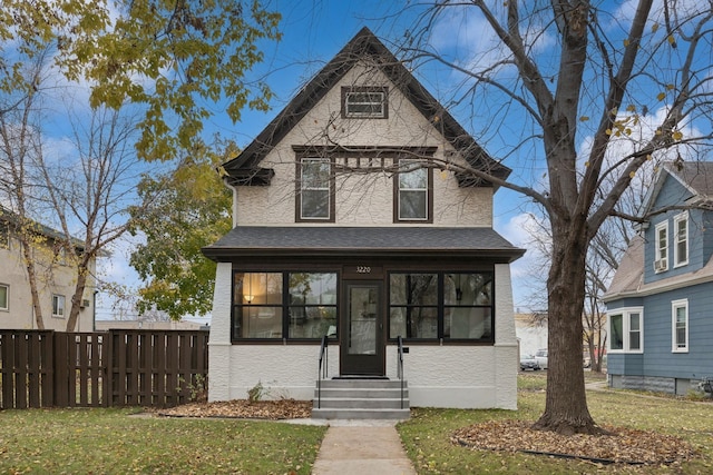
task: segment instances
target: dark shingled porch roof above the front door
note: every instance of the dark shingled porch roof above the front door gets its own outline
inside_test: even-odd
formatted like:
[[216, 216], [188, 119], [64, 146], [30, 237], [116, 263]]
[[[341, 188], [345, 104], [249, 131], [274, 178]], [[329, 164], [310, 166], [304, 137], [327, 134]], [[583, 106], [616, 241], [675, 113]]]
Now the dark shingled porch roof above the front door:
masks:
[[511, 263], [525, 254], [491, 228], [237, 226], [204, 247], [213, 260], [240, 256], [479, 256]]

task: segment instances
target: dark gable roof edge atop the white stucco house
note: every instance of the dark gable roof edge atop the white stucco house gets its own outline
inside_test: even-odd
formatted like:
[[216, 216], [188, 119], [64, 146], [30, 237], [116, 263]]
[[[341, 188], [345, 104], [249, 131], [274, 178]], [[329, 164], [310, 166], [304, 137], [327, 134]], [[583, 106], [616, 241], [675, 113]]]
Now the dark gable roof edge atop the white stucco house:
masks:
[[[295, 127], [300, 120], [332, 89], [360, 60], [369, 59], [407, 97], [429, 121], [441, 122], [443, 138], [476, 169], [505, 179], [510, 169], [494, 160], [458, 121], [431, 96], [389, 49], [364, 27], [356, 36], [304, 86], [292, 101], [260, 132], [237, 157], [223, 168], [231, 185], [265, 184], [272, 170], [258, 169], [257, 164]], [[490, 186], [484, 180], [469, 178], [469, 184]]]

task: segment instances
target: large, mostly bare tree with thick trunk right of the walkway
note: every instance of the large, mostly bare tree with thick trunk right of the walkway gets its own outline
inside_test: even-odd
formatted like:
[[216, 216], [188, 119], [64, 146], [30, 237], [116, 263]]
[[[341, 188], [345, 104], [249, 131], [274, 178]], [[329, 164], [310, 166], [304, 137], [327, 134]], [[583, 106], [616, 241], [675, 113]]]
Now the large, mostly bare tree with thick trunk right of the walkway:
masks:
[[600, 432], [582, 367], [587, 254], [611, 216], [627, 215], [621, 198], [645, 164], [711, 145], [712, 19], [710, 2], [683, 0], [446, 0], [407, 32], [404, 60], [450, 68], [465, 88], [451, 108], [477, 111], [480, 144], [516, 170], [508, 181], [457, 171], [519, 191], [547, 217], [549, 368], [537, 428]]

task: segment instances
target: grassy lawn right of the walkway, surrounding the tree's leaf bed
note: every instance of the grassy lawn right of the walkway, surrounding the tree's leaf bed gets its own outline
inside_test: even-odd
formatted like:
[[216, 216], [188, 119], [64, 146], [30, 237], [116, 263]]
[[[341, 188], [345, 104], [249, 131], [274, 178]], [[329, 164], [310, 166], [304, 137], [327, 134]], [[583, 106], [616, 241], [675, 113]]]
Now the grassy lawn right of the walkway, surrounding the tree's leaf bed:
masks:
[[[411, 419], [398, 429], [419, 474], [707, 474], [713, 473], [713, 404], [665, 397], [647, 397], [624, 392], [588, 392], [587, 403], [594, 419], [680, 436], [692, 443], [701, 457], [676, 466], [598, 466], [588, 462], [550, 458], [520, 453], [471, 451], [453, 445], [453, 431], [477, 423], [500, 419], [535, 422], [545, 409], [546, 374], [518, 376], [518, 410], [455, 410], [414, 408]], [[602, 379], [589, 375], [587, 382]]]

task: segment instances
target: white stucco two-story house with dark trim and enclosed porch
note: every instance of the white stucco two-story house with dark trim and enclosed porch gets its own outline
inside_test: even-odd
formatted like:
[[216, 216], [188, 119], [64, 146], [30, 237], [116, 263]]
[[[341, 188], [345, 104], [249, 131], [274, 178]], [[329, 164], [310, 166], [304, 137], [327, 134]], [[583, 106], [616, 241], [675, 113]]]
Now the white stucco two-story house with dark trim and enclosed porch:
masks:
[[211, 400], [312, 399], [332, 335], [330, 377], [395, 378], [401, 337], [412, 405], [516, 407], [524, 250], [492, 229], [496, 187], [447, 162], [510, 171], [362, 29], [223, 166]]

